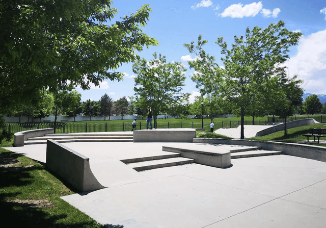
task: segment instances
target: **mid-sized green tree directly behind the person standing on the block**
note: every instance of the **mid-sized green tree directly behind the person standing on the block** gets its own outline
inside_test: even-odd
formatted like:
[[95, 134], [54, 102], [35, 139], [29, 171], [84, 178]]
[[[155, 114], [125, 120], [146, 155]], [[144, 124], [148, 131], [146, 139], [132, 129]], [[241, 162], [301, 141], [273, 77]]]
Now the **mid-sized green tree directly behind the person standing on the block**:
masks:
[[132, 65], [137, 77], [133, 88], [135, 96], [130, 99], [139, 108], [152, 108], [155, 128], [157, 115], [166, 113], [169, 105], [177, 104], [186, 69], [181, 62], [168, 63], [161, 54], [154, 53], [153, 58], [149, 61], [143, 58]]

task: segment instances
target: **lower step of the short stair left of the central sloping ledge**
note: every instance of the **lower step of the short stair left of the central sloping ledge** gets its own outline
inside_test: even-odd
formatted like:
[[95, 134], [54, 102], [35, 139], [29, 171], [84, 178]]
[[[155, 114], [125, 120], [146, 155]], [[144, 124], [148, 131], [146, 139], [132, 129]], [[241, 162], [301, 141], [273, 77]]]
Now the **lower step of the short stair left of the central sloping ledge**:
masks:
[[144, 162], [135, 162], [135, 163], [129, 163], [128, 165], [134, 170], [144, 171], [149, 169], [157, 169], [157, 168], [184, 165], [190, 163], [195, 163], [195, 160], [178, 157], [178, 158], [168, 158], [168, 159], [160, 159], [160, 160], [152, 160], [152, 161], [144, 161]]

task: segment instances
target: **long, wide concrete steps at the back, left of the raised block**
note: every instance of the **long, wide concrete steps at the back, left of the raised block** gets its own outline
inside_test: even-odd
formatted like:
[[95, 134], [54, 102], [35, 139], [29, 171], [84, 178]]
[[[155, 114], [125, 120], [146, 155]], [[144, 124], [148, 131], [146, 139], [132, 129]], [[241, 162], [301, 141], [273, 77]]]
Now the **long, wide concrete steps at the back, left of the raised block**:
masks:
[[42, 137], [29, 138], [24, 145], [45, 144], [47, 139], [53, 139], [57, 142], [132, 142], [132, 133], [115, 133], [115, 134], [47, 134]]

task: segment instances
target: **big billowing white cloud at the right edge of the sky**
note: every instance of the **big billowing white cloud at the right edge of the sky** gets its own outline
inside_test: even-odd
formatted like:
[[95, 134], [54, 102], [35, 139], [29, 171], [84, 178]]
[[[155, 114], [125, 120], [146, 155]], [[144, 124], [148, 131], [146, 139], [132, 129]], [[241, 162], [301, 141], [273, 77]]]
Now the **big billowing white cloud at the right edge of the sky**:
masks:
[[285, 65], [289, 75], [298, 74], [304, 81], [304, 89], [310, 93], [326, 94], [326, 30], [303, 37], [297, 47], [297, 55]]

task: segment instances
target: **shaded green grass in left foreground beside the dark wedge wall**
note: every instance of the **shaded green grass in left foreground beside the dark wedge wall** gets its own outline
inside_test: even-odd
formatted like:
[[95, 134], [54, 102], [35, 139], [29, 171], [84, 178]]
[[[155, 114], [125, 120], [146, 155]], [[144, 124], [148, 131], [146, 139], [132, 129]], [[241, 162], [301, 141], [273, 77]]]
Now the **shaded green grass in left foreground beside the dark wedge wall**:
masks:
[[32, 159], [0, 148], [0, 180], [8, 227], [104, 227], [61, 199], [74, 192]]

